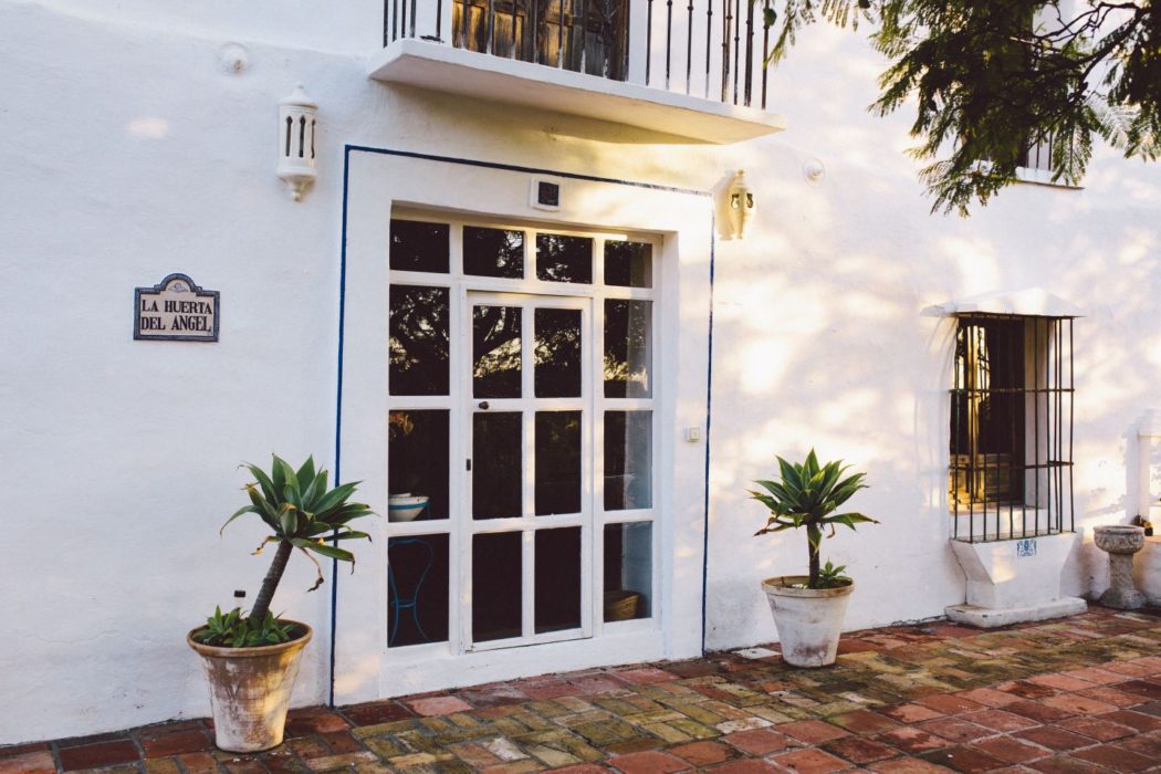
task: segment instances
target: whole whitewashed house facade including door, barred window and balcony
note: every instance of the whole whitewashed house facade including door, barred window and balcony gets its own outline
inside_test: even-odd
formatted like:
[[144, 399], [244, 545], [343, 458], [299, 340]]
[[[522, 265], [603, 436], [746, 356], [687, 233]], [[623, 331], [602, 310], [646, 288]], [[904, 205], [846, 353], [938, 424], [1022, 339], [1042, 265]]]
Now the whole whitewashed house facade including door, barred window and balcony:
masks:
[[[0, 0], [0, 744], [208, 712], [272, 451], [384, 514], [291, 560], [296, 704], [771, 642], [805, 537], [747, 489], [810, 447], [882, 522], [824, 544], [850, 629], [1104, 588], [1091, 528], [1161, 494], [1161, 167], [930, 215], [857, 35], [763, 73], [744, 1], [385, 6]], [[173, 274], [216, 341], [134, 338]]]

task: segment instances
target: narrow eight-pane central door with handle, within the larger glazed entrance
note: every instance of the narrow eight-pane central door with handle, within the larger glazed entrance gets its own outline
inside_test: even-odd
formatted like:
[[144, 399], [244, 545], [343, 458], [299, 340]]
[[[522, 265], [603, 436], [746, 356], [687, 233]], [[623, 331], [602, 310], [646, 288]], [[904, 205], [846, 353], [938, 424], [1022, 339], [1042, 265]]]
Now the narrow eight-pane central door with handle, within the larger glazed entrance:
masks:
[[471, 646], [589, 636], [592, 302], [467, 298]]

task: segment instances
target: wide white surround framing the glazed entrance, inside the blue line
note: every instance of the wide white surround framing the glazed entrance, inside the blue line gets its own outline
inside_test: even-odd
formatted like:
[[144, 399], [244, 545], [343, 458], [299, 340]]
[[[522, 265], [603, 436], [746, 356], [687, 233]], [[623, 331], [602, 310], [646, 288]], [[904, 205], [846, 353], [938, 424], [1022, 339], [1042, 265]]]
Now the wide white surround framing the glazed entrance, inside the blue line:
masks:
[[[378, 149], [349, 149], [347, 161], [338, 448], [341, 477], [362, 482], [361, 499], [385, 511], [387, 253], [390, 217], [401, 207], [478, 214], [489, 222], [572, 224], [578, 230], [599, 224], [614, 233], [656, 234], [661, 248], [656, 332], [664, 332], [664, 337], [657, 337], [662, 368], [655, 379], [664, 389], [655, 408], [652, 619], [610, 627], [597, 620], [590, 639], [534, 648], [460, 653], [447, 644], [432, 644], [388, 653], [389, 530], [385, 519], [375, 520], [369, 527], [375, 542], [360, 551], [356, 571], [337, 577], [336, 701], [369, 701], [546, 672], [699, 654], [706, 448], [701, 442], [684, 442], [682, 436], [691, 427], [704, 432], [706, 422], [712, 198], [655, 185], [565, 175], [558, 178], [561, 209], [546, 214], [528, 204], [529, 185], [546, 174], [543, 169], [417, 158]], [[550, 162], [547, 157], [543, 161]], [[488, 284], [479, 283], [479, 289]], [[452, 325], [461, 330], [457, 320]], [[329, 607], [329, 600], [320, 598], [319, 605]]]

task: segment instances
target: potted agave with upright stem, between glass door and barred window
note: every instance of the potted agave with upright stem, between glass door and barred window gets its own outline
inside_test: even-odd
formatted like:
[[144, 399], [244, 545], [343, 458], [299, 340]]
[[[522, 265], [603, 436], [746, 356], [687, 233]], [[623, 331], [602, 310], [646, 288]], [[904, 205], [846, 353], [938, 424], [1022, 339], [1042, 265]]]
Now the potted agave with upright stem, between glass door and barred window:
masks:
[[762, 588], [774, 615], [783, 659], [794, 666], [827, 666], [838, 653], [838, 635], [854, 581], [844, 574], [845, 566], [820, 565], [822, 538], [834, 536], [835, 525], [854, 529], [858, 523], [879, 522], [861, 513], [836, 513], [851, 495], [866, 489], [864, 473], [844, 477], [849, 465], [842, 461], [820, 465], [810, 449], [805, 462], [778, 457], [778, 466], [780, 480], [755, 482], [765, 491], [750, 492], [770, 509], [766, 526], [755, 535], [805, 528], [809, 574], [766, 578]]

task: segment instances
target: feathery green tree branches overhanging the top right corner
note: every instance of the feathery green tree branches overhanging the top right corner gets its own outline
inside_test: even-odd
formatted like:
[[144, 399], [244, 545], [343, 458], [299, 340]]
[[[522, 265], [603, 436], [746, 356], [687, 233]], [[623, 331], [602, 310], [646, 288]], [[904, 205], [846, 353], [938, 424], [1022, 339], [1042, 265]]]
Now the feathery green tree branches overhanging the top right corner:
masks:
[[1079, 185], [1095, 142], [1161, 154], [1161, 16], [1153, 0], [751, 0], [777, 30], [767, 65], [815, 22], [872, 29], [887, 57], [879, 115], [915, 109], [911, 153], [932, 211], [968, 214], [1051, 142], [1053, 182]]

